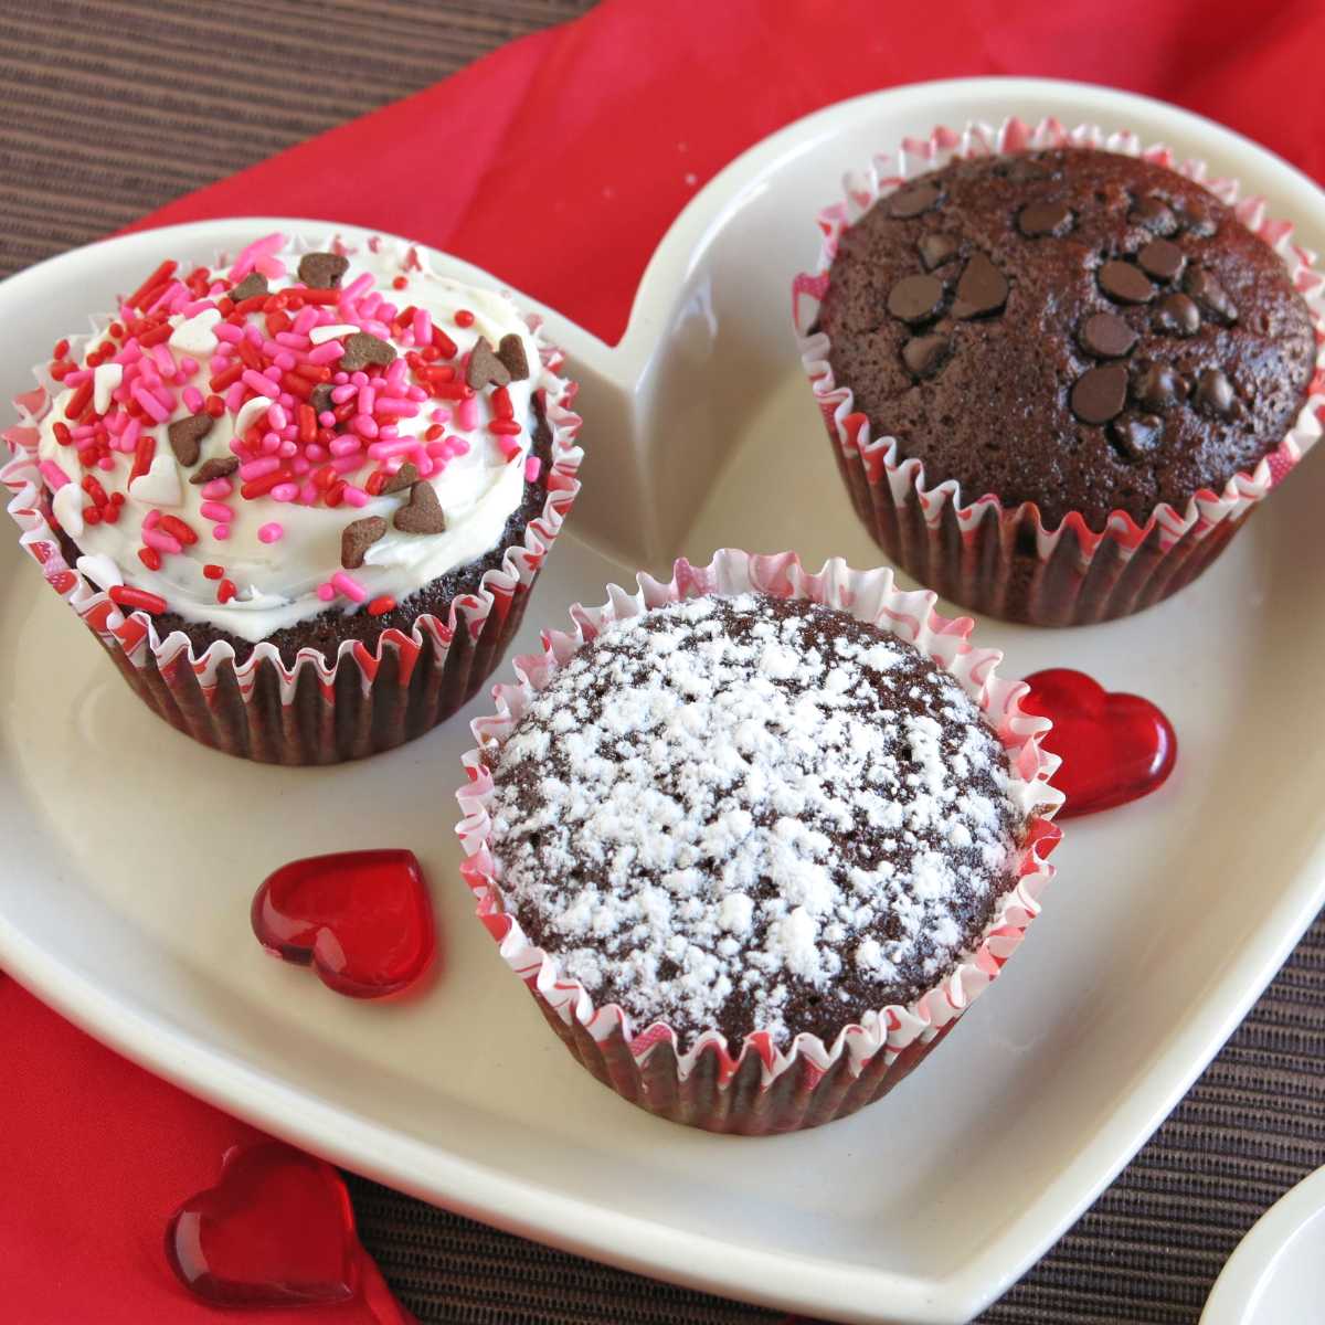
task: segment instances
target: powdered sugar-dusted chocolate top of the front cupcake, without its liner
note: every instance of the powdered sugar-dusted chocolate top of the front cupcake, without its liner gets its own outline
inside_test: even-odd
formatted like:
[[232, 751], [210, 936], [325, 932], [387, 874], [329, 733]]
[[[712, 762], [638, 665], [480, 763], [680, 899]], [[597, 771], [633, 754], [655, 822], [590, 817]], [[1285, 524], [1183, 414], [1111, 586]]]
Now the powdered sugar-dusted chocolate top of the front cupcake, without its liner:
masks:
[[505, 908], [636, 1032], [832, 1044], [971, 949], [1026, 814], [962, 686], [763, 594], [607, 625], [490, 757]]

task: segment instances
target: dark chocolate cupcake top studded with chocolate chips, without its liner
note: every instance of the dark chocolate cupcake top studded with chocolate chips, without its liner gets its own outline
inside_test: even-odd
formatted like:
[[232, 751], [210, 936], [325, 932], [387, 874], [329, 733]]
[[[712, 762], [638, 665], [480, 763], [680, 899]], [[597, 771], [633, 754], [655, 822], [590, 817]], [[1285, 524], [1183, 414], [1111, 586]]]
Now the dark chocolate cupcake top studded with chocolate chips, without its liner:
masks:
[[841, 236], [819, 330], [877, 436], [963, 501], [1143, 525], [1249, 472], [1316, 339], [1279, 256], [1174, 171], [1060, 148], [958, 160]]

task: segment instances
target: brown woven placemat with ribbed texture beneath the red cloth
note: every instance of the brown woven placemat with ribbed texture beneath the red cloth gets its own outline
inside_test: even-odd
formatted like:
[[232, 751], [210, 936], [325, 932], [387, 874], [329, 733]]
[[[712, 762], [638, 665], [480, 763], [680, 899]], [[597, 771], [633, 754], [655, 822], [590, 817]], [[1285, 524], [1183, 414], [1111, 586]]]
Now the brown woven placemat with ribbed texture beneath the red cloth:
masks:
[[[8, 0], [0, 4], [0, 276], [588, 7]], [[335, 81], [334, 94], [318, 77], [329, 41], [351, 48], [359, 62], [356, 77]], [[982, 1321], [1194, 1322], [1239, 1238], [1321, 1165], [1325, 920], [1122, 1177]], [[421, 1321], [778, 1320], [350, 1182], [366, 1246]]]

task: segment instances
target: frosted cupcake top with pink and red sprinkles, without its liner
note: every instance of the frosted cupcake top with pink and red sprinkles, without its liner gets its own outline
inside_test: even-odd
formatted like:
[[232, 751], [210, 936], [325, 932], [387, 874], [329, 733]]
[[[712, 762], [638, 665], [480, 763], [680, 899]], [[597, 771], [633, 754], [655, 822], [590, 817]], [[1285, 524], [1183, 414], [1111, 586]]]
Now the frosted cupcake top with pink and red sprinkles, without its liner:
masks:
[[398, 241], [163, 262], [98, 326], [49, 366], [53, 515], [98, 587], [204, 637], [395, 612], [489, 553], [545, 464], [529, 326]]

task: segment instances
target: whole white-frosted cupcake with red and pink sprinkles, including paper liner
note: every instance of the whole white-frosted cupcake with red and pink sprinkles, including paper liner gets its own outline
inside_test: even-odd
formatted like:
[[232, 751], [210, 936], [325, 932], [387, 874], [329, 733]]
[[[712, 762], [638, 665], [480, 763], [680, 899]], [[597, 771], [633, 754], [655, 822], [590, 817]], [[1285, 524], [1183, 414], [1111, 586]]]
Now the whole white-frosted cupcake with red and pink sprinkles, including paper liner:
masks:
[[500, 660], [578, 489], [556, 363], [412, 245], [272, 235], [163, 262], [56, 346], [3, 477], [156, 713], [331, 763], [428, 730]]

